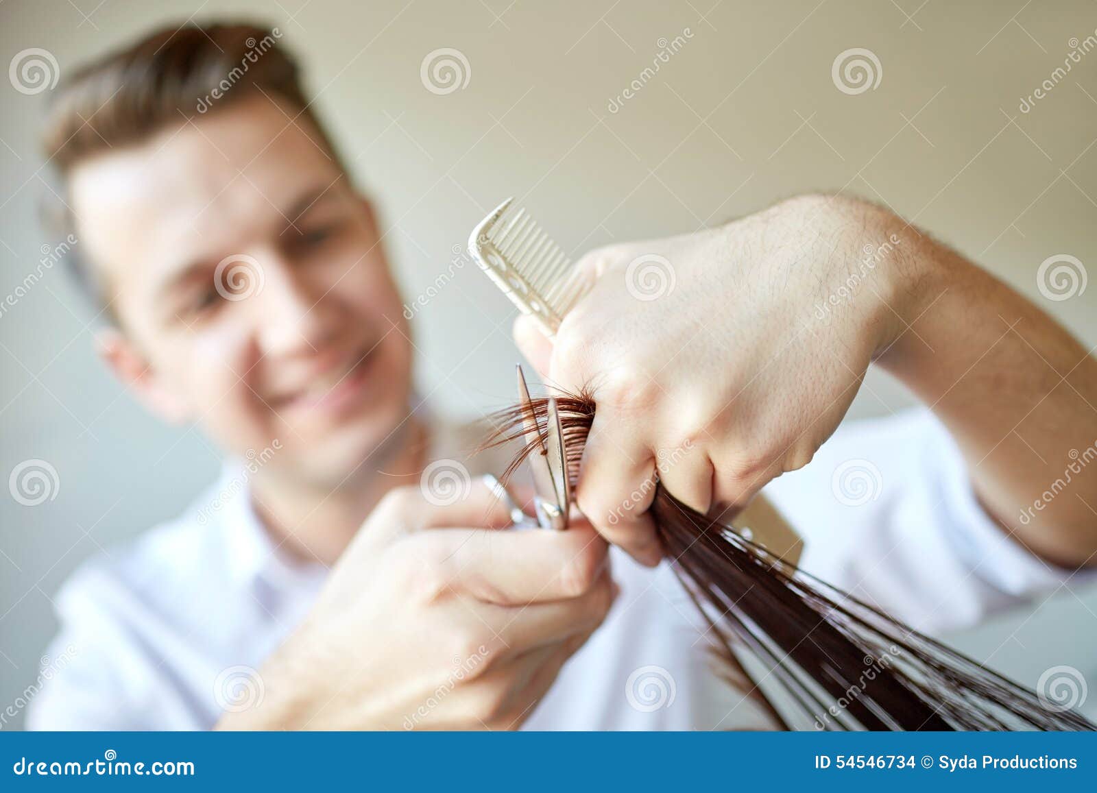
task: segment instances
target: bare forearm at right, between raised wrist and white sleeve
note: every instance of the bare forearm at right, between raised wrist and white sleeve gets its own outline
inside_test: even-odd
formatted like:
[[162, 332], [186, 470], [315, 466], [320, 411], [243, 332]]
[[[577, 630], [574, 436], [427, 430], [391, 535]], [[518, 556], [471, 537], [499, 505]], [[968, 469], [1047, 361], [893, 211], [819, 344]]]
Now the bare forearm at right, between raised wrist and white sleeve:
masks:
[[1007, 532], [1051, 562], [1097, 564], [1097, 360], [928, 237], [904, 256], [917, 294], [879, 362], [948, 426]]

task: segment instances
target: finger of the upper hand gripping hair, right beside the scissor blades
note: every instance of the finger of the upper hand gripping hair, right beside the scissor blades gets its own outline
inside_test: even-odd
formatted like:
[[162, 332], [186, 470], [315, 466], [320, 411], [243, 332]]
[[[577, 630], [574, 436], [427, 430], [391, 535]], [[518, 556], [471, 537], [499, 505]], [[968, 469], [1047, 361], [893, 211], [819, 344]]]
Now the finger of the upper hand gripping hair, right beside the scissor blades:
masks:
[[595, 529], [644, 565], [655, 566], [663, 551], [647, 508], [655, 499], [655, 458], [634, 432], [604, 410], [583, 451], [575, 500]]

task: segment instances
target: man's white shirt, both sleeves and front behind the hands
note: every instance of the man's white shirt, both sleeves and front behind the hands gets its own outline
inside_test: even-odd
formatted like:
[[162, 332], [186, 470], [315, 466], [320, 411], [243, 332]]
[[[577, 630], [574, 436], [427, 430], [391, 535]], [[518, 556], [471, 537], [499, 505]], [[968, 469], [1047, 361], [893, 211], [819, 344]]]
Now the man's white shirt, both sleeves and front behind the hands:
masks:
[[[226, 704], [262, 695], [255, 670], [308, 611], [327, 571], [273, 548], [245, 482], [242, 468], [227, 466], [182, 516], [73, 574], [47, 652], [68, 661], [33, 700], [30, 727], [203, 729]], [[804, 569], [937, 632], [1071, 575], [1008, 539], [968, 483], [945, 428], [913, 410], [845, 424], [765, 492], [804, 537]], [[649, 570], [613, 554], [621, 597], [524, 728], [767, 726], [713, 673], [698, 641], [704, 626], [669, 566]]]

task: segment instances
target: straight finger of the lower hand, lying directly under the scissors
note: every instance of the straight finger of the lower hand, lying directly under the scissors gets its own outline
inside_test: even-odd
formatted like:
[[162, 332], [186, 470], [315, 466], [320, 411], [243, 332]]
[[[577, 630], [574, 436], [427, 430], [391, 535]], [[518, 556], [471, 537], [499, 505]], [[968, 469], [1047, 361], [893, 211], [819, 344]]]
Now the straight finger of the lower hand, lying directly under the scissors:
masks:
[[487, 603], [525, 605], [583, 596], [607, 565], [608, 548], [586, 523], [565, 531], [432, 532], [428, 551], [453, 589]]

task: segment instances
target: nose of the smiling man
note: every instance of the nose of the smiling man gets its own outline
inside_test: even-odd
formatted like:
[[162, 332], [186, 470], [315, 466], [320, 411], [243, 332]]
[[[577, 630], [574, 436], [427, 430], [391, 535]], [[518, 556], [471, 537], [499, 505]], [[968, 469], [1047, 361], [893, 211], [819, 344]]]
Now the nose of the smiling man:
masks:
[[294, 268], [278, 254], [257, 257], [263, 287], [255, 295], [258, 341], [264, 355], [293, 356], [321, 350], [339, 327], [335, 301], [314, 284], [306, 268]]

